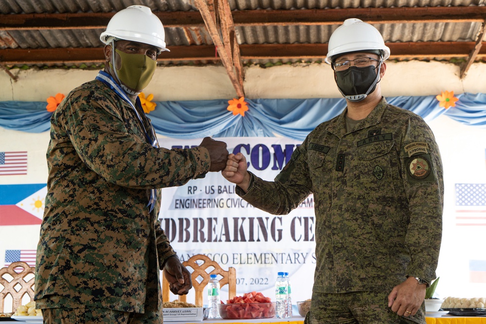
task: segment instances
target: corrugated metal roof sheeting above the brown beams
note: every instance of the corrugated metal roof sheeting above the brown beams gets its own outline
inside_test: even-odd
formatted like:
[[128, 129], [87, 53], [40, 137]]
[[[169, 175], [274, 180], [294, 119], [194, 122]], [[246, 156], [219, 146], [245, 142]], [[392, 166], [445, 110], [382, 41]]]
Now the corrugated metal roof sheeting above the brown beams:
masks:
[[[339, 8], [400, 8], [447, 6], [485, 6], [486, 0], [228, 0], [232, 11], [242, 10], [301, 10]], [[141, 4], [154, 12], [197, 11], [194, 0], [2, 0], [0, 13], [22, 14], [79, 14], [117, 12], [129, 5]], [[481, 21], [459, 22], [410, 22], [374, 23], [385, 42], [475, 42], [481, 31]], [[337, 25], [258, 25], [235, 28], [240, 45], [253, 44], [326, 44]], [[40, 29], [0, 30], [0, 49], [55, 49], [55, 48], [99, 48], [103, 44], [99, 35], [103, 28], [94, 29]], [[167, 27], [166, 42], [171, 46], [212, 45], [207, 29], [203, 27]], [[325, 53], [323, 53], [323, 57]], [[480, 57], [481, 58], [481, 57]], [[408, 59], [406, 57], [397, 58]], [[421, 59], [415, 57], [415, 59]], [[424, 57], [423, 59], [449, 59]], [[303, 58], [320, 61], [322, 58]], [[464, 57], [462, 58], [464, 60]], [[243, 59], [243, 64], [272, 64], [298, 62], [301, 59]], [[1, 63], [1, 62], [0, 62]], [[159, 64], [220, 64], [219, 60], [164, 61]], [[93, 63], [71, 65], [92, 66]], [[94, 65], [99, 65], [95, 63]], [[17, 64], [19, 66], [21, 64]], [[63, 66], [62, 63], [34, 64], [34, 66]]]

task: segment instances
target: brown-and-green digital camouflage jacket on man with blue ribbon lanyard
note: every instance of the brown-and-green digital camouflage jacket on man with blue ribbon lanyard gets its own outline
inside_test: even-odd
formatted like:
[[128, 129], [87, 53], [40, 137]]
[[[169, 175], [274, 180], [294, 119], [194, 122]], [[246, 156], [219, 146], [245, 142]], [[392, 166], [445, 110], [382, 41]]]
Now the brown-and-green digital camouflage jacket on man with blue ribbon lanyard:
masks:
[[208, 150], [154, 148], [132, 106], [97, 80], [72, 90], [51, 123], [35, 299], [60, 296], [39, 300], [42, 308], [161, 309], [159, 268], [175, 252], [156, 217], [160, 190], [149, 213], [150, 189], [203, 177]]

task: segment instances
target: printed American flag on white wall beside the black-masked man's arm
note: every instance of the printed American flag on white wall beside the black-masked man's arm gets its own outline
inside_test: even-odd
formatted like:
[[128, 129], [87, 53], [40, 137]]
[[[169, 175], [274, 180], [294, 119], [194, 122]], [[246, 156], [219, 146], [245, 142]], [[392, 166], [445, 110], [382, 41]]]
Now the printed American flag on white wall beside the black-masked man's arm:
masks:
[[456, 225], [486, 226], [486, 184], [455, 184]]

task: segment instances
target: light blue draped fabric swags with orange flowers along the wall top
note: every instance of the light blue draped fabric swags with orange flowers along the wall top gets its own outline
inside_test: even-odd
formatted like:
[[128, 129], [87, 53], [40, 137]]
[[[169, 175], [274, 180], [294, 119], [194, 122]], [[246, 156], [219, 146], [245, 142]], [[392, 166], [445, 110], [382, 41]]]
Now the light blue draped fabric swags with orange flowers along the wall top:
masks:
[[[446, 115], [458, 122], [486, 127], [486, 94], [462, 93], [455, 107], [439, 107], [435, 96], [389, 97], [387, 101], [413, 111], [425, 121]], [[174, 138], [268, 137], [281, 135], [303, 140], [318, 124], [341, 114], [344, 98], [245, 99], [244, 117], [226, 110], [227, 100], [156, 102], [148, 117], [157, 134]], [[0, 102], [0, 126], [30, 133], [50, 129], [47, 102]]]

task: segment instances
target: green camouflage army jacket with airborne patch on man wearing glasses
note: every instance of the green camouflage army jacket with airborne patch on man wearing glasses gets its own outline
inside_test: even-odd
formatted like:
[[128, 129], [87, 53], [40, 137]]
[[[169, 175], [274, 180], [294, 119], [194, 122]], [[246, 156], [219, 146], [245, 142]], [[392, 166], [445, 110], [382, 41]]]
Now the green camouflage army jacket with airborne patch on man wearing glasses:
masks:
[[406, 275], [429, 283], [442, 236], [442, 163], [434, 135], [414, 113], [382, 101], [350, 132], [345, 114], [317, 126], [250, 204], [289, 213], [310, 193], [315, 208], [313, 291], [390, 290]]

